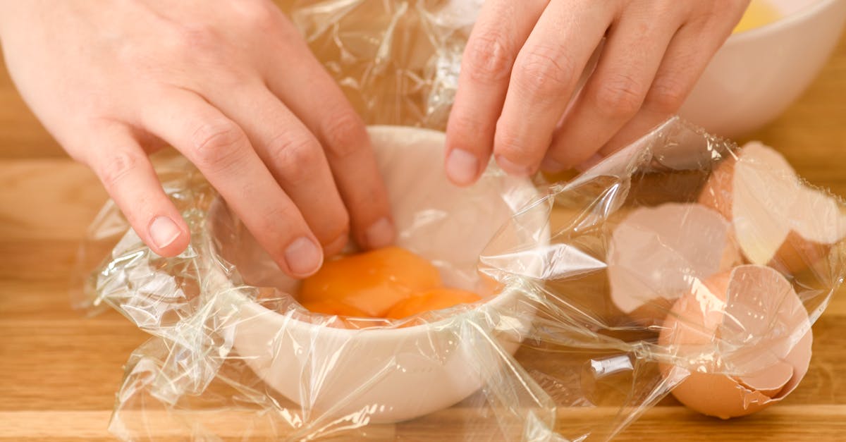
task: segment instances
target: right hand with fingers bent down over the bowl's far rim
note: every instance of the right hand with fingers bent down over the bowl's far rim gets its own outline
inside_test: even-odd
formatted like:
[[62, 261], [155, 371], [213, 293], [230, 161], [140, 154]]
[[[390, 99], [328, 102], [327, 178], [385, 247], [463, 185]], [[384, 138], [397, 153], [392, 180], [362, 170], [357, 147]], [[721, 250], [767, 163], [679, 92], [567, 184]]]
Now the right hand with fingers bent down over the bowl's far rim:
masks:
[[[749, 0], [488, 0], [467, 42], [447, 128], [447, 174], [493, 154], [515, 175], [614, 152], [678, 111]], [[596, 68], [576, 93], [591, 55]]]

